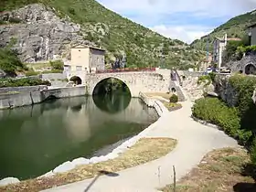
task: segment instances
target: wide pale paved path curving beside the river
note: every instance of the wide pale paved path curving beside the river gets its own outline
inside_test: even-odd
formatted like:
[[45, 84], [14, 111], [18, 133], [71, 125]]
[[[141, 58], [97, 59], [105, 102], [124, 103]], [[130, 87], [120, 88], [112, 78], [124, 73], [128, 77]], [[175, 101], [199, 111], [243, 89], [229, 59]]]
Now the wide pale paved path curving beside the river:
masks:
[[172, 166], [176, 166], [176, 179], [185, 176], [209, 151], [237, 142], [225, 133], [193, 121], [190, 101], [183, 102], [183, 108], [161, 117], [148, 137], [176, 138], [176, 148], [168, 155], [145, 165], [138, 165], [121, 172], [118, 176], [100, 176], [48, 192], [155, 192], [159, 187], [172, 183]]

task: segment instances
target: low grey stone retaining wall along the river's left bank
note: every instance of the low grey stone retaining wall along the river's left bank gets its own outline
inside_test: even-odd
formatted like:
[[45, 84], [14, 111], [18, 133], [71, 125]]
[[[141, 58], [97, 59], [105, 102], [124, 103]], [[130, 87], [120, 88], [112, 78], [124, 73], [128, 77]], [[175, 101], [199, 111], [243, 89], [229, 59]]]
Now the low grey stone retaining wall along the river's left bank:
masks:
[[27, 91], [19, 94], [0, 95], [0, 109], [9, 109], [36, 104], [47, 100], [50, 96], [66, 98], [85, 95], [85, 87], [59, 88], [45, 91]]

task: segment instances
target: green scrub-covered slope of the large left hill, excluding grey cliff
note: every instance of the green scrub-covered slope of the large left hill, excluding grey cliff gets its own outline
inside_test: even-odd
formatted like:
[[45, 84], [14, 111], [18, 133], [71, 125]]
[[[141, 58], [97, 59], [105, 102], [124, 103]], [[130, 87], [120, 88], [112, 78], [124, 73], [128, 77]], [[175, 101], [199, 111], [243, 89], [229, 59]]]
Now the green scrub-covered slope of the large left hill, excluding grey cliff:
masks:
[[190, 48], [180, 40], [163, 37], [148, 28], [106, 9], [95, 0], [4, 0], [0, 11], [27, 4], [42, 3], [54, 8], [60, 17], [69, 16], [80, 24], [80, 35], [106, 48], [108, 62], [113, 56], [126, 54], [127, 68], [133, 66], [188, 69], [205, 58], [202, 51]]

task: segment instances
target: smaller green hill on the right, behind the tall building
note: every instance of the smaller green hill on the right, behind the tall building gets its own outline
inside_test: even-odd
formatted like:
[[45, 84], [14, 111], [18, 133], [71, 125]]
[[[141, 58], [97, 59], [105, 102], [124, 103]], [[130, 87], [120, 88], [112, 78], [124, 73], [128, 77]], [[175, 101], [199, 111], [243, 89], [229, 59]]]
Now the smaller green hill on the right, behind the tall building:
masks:
[[191, 47], [206, 50], [208, 42], [209, 50], [211, 50], [214, 37], [223, 37], [226, 33], [228, 34], [228, 37], [243, 38], [247, 33], [247, 27], [254, 23], [256, 23], [256, 10], [240, 16], [235, 16], [229, 19], [225, 24], [215, 28], [208, 34], [208, 36], [201, 37], [192, 42]]

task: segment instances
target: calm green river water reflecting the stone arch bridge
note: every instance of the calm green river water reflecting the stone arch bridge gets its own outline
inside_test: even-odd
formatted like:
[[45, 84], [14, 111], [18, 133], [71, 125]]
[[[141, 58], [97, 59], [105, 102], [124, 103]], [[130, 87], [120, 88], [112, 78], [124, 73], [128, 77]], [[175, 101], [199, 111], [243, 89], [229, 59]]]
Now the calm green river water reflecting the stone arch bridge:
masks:
[[75, 97], [0, 111], [0, 179], [41, 176], [140, 133], [158, 116], [125, 95]]

